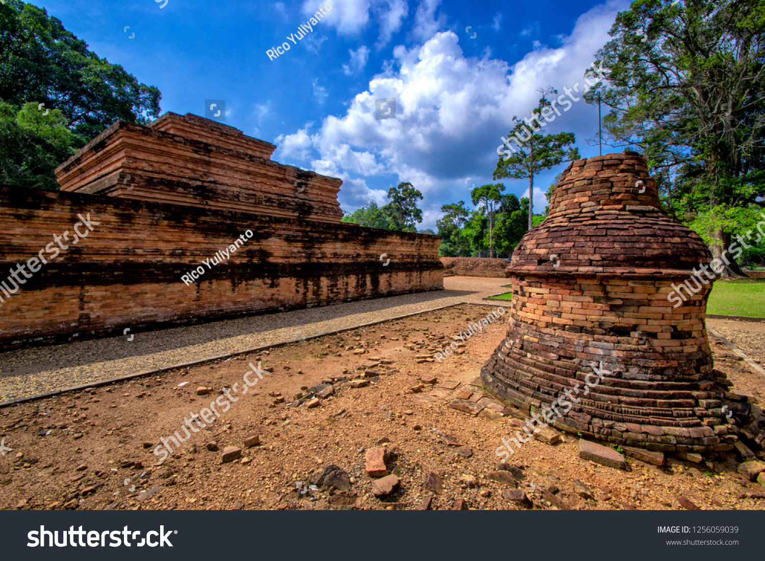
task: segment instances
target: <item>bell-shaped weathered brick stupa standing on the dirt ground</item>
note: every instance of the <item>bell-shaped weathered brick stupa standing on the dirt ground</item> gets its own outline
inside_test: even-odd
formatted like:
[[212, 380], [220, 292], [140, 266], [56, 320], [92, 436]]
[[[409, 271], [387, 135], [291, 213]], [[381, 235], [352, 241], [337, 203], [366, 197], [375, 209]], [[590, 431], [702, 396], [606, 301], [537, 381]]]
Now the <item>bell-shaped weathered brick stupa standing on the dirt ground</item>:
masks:
[[711, 283], [682, 306], [668, 300], [710, 261], [662, 210], [640, 154], [572, 162], [548, 218], [513, 253], [507, 336], [483, 383], [524, 414], [578, 388], [579, 402], [550, 416], [571, 433], [660, 452], [731, 449], [705, 328]]

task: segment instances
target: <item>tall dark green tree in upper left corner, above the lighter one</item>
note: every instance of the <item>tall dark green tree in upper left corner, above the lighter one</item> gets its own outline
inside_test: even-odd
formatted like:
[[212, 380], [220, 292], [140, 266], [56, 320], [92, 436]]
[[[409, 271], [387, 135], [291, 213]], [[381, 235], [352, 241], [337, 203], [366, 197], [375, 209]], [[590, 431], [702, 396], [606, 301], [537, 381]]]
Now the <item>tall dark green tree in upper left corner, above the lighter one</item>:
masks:
[[47, 11], [21, 0], [0, 4], [0, 101], [58, 109], [80, 141], [116, 119], [142, 123], [159, 116], [161, 94], [122, 66], [98, 57]]

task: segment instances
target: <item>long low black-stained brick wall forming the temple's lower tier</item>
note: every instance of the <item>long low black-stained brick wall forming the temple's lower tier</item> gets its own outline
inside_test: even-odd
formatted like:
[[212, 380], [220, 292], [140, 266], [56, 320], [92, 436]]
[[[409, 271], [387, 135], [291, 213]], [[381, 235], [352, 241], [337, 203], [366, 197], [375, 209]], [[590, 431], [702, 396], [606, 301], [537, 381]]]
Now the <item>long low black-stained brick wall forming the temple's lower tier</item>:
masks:
[[[99, 225], [0, 303], [3, 347], [443, 289], [438, 236], [12, 186], [0, 186], [0, 271], [54, 234], [71, 240], [87, 212]], [[248, 229], [228, 260], [202, 264]]]

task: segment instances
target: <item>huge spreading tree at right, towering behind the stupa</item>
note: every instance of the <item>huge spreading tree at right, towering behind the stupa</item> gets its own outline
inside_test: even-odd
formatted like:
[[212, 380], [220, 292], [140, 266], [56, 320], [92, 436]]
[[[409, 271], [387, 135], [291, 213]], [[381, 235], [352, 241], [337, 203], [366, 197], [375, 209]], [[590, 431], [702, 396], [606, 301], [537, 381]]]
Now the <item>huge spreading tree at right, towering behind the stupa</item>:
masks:
[[[617, 15], [597, 53], [609, 69], [604, 128], [614, 145], [642, 149], [669, 204], [722, 259], [765, 208], [765, 2], [672, 4], [641, 0]], [[740, 274], [734, 260], [723, 271]]]

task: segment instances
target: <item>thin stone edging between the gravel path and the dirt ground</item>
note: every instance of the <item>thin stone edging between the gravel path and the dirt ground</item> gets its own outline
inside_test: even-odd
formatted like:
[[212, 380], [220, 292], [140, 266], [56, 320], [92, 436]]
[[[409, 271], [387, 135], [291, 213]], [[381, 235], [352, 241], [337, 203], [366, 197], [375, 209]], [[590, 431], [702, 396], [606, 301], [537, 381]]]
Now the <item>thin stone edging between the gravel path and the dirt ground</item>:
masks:
[[[377, 325], [379, 323], [386, 323], [386, 322], [389, 322], [389, 321], [396, 321], [398, 319], [404, 319], [404, 318], [407, 318], [407, 317], [418, 316], [421, 313], [435, 312], [436, 310], [445, 310], [446, 308], [451, 308], [451, 307], [454, 307], [454, 306], [461, 306], [463, 304], [472, 304], [474, 306], [487, 306], [487, 304], [483, 304], [483, 303], [479, 303], [479, 302], [457, 302], [457, 303], [454, 303], [454, 304], [448, 304], [447, 306], [438, 306], [438, 307], [435, 307], [435, 308], [430, 308], [428, 310], [422, 310], [422, 311], [419, 311], [419, 312], [405, 313], [403, 316], [395, 316], [395, 317], [391, 317], [391, 318], [388, 318], [388, 319], [379, 319], [377, 321], [370, 322], [370, 323], [362, 323], [362, 324], [357, 325], [357, 326], [347, 327], [346, 329], [334, 329], [334, 331], [327, 331], [327, 332], [324, 332], [324, 333], [318, 333], [317, 335], [312, 335], [310, 337], [306, 337], [305, 340], [308, 340], [308, 339], [318, 339], [319, 337], [326, 337], [326, 336], [330, 336], [330, 335], [337, 335], [337, 333], [342, 333], [342, 332], [345, 332], [345, 331], [351, 331], [352, 329], [360, 329], [362, 327], [375, 326], [375, 325]], [[128, 374], [128, 375], [125, 375], [125, 376], [118, 376], [117, 378], [109, 378], [108, 380], [99, 380], [99, 381], [95, 381], [95, 382], [90, 382], [88, 384], [80, 384], [79, 386], [72, 386], [71, 388], [63, 388], [62, 390], [48, 391], [45, 394], [34, 394], [34, 395], [30, 395], [30, 396], [25, 396], [25, 397], [19, 397], [18, 399], [15, 399], [15, 400], [3, 401], [2, 403], [0, 403], [0, 408], [2, 408], [2, 407], [9, 407], [11, 405], [16, 405], [16, 404], [23, 404], [23, 403], [26, 403], [28, 401], [34, 401], [34, 400], [38, 400], [38, 399], [45, 399], [46, 397], [54, 397], [56, 395], [65, 394], [65, 393], [67, 393], [69, 391], [80, 391], [80, 390], [84, 390], [86, 388], [100, 388], [101, 386], [106, 386], [106, 385], [109, 385], [109, 384], [116, 384], [117, 382], [121, 382], [121, 381], [125, 381], [125, 380], [130, 380], [132, 378], [142, 378], [144, 376], [158, 375], [158, 374], [162, 374], [164, 372], [168, 372], [168, 371], [171, 371], [171, 370], [178, 370], [180, 368], [189, 368], [191, 366], [199, 366], [199, 365], [203, 365], [203, 364], [205, 364], [207, 362], [220, 361], [223, 358], [233, 358], [235, 356], [246, 355], [246, 354], [251, 353], [251, 352], [261, 352], [261, 351], [265, 351], [265, 350], [268, 350], [268, 349], [275, 349], [276, 347], [282, 347], [282, 346], [285, 346], [285, 345], [290, 345], [291, 343], [301, 342], [303, 340], [304, 339], [302, 337], [300, 339], [290, 339], [289, 341], [282, 341], [282, 342], [272, 343], [271, 345], [262, 345], [262, 346], [259, 346], [259, 347], [255, 347], [253, 349], [246, 349], [244, 351], [229, 352], [229, 353], [226, 353], [225, 355], [217, 355], [217, 356], [213, 356], [213, 357], [200, 358], [200, 360], [196, 360], [196, 361], [181, 362], [180, 364], [177, 364], [177, 365], [163, 366], [161, 368], [153, 368], [151, 370], [144, 370], [144, 371], [140, 371], [140, 372], [135, 372], [133, 374]]]

